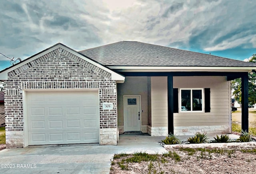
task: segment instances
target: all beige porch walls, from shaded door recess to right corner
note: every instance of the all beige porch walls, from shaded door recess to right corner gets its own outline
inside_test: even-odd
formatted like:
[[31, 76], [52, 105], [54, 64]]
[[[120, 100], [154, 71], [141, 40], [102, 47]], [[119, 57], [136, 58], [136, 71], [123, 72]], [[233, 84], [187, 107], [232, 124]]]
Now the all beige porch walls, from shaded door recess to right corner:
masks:
[[[173, 79], [174, 88], [210, 88], [211, 91], [211, 112], [174, 113], [174, 133], [191, 135], [197, 131], [230, 132], [230, 82], [226, 77], [192, 76]], [[126, 77], [125, 83], [118, 84], [117, 89], [118, 128], [122, 129], [124, 125], [123, 95], [141, 95], [144, 111], [142, 125], [148, 125], [148, 133], [152, 136], [168, 134], [167, 77]], [[148, 119], [150, 116], [151, 119]]]

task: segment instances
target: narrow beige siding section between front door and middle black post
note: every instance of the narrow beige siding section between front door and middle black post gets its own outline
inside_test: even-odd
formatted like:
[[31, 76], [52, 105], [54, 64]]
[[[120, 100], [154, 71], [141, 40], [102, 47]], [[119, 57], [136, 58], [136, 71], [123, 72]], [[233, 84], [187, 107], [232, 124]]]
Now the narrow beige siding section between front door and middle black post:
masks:
[[168, 127], [167, 77], [151, 77], [152, 127]]

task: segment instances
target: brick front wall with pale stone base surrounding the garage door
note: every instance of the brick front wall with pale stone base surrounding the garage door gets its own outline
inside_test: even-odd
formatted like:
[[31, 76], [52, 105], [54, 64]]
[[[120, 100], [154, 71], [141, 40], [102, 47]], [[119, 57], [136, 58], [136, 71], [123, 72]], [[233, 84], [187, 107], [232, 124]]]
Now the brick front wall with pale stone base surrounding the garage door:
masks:
[[[116, 144], [116, 81], [111, 73], [58, 48], [8, 73], [4, 87], [7, 148], [24, 146], [22, 91], [26, 89], [99, 89], [100, 144]], [[102, 110], [103, 102], [113, 103], [113, 109]]]

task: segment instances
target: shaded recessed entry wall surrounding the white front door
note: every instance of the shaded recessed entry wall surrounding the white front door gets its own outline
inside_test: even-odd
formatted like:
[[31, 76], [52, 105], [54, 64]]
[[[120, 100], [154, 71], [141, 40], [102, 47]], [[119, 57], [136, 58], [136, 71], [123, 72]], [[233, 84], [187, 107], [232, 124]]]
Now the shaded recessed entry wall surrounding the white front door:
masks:
[[142, 132], [147, 132], [148, 125], [148, 79], [147, 77], [126, 77], [124, 83], [117, 84], [118, 91], [118, 129], [124, 132], [124, 95], [141, 95]]

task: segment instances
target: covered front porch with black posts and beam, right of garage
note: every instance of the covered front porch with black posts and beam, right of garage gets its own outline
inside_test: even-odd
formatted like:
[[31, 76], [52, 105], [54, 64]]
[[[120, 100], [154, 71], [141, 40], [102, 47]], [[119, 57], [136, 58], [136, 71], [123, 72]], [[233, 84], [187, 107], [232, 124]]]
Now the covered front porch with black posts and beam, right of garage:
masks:
[[[118, 129], [120, 133], [134, 121], [126, 119], [124, 96], [140, 97], [140, 110], [135, 119], [140, 120], [140, 130], [152, 136], [166, 136], [168, 133], [193, 135], [196, 132], [224, 134], [231, 132], [231, 91], [230, 80], [242, 77], [242, 129], [248, 130], [248, 75], [230, 72], [173, 72], [173, 73], [123, 73], [126, 81], [118, 84]], [[247, 80], [246, 80], [247, 79]], [[182, 90], [200, 91], [201, 107], [197, 111], [192, 106], [184, 112]], [[246, 91], [247, 90], [247, 91]], [[193, 94], [194, 95], [194, 94]], [[192, 105], [192, 102], [191, 102]], [[186, 108], [187, 109], [187, 108]], [[247, 109], [247, 113], [246, 113]], [[135, 115], [135, 114], [134, 114]], [[139, 118], [139, 119], [138, 119]], [[246, 121], [247, 119], [247, 121]]]

